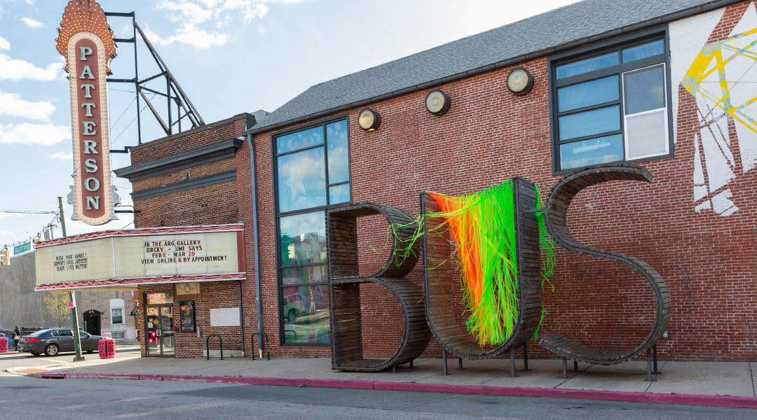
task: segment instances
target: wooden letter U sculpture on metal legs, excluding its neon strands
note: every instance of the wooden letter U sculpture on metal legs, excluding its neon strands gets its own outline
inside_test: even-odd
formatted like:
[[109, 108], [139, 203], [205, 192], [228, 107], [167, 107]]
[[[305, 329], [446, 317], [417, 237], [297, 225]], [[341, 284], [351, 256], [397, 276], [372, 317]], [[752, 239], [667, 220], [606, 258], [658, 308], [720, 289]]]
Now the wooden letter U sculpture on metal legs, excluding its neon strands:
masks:
[[[519, 288], [519, 313], [516, 327], [509, 338], [496, 347], [481, 348], [459, 320], [459, 310], [454, 307], [453, 287], [456, 279], [450, 264], [445, 264], [453, 253], [449, 239], [442, 236], [444, 223], [441, 218], [426, 218], [422, 227], [423, 236], [423, 289], [428, 326], [431, 327], [442, 347], [444, 375], [447, 375], [447, 351], [459, 357], [462, 369], [463, 358], [489, 359], [510, 351], [510, 375], [516, 375], [515, 349], [523, 347], [525, 370], [528, 370], [526, 341], [533, 337], [541, 319], [541, 263], [539, 229], [534, 208], [537, 207], [537, 192], [534, 184], [525, 178], [513, 178], [512, 190], [516, 210], [516, 237]], [[440, 208], [428, 193], [420, 197], [423, 214], [439, 212]]]

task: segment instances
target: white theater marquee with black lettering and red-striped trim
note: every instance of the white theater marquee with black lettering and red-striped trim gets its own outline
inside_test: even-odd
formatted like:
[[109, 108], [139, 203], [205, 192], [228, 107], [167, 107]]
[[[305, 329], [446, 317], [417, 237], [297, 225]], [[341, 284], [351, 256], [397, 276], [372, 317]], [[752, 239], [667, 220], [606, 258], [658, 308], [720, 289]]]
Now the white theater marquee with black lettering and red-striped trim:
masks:
[[241, 224], [106, 230], [40, 242], [36, 290], [245, 279]]

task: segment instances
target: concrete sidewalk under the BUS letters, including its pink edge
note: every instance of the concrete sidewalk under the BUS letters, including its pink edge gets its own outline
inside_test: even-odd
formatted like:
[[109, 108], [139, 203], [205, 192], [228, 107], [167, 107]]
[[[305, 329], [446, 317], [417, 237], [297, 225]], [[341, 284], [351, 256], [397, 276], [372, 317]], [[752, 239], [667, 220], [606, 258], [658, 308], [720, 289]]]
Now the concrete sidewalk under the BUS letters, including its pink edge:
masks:
[[523, 371], [516, 362], [510, 377], [509, 360], [465, 360], [463, 370], [450, 358], [450, 375], [442, 375], [441, 359], [419, 359], [399, 366], [397, 373], [341, 372], [328, 358], [251, 360], [160, 359], [126, 357], [53, 366], [17, 367], [8, 372], [41, 378], [212, 381], [229, 384], [269, 384], [434, 391], [464, 394], [521, 395], [649, 401], [757, 408], [752, 362], [660, 362], [656, 381], [645, 381], [646, 363], [616, 366], [579, 364], [562, 378], [560, 360], [529, 360]]

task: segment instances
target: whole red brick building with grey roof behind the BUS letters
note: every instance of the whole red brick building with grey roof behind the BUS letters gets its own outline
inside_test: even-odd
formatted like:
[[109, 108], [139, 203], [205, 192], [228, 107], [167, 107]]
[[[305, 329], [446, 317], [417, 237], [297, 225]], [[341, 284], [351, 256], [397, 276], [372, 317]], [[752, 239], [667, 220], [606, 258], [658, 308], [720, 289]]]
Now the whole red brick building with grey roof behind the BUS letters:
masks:
[[[188, 296], [199, 328], [176, 333], [176, 356], [201, 356], [208, 334], [249, 355], [260, 326], [274, 356], [330, 356], [326, 208], [371, 201], [416, 216], [423, 191], [472, 193], [516, 176], [544, 199], [566, 173], [623, 162], [653, 182], [585, 190], [569, 211], [573, 235], [665, 278], [663, 359], [755, 359], [755, 43], [752, 0], [585, 0], [315, 85], [264, 118], [132, 148], [117, 174], [133, 183], [136, 227], [244, 224], [245, 279], [198, 283]], [[427, 110], [434, 90], [446, 113]], [[386, 227], [361, 219], [361, 272], [386, 261]], [[540, 337], [607, 350], [646, 337], [653, 295], [634, 270], [564, 249], [556, 260]], [[139, 286], [158, 292], [188, 299], [174, 284]], [[380, 286], [360, 293], [366, 355], [391, 354], [397, 301]], [[238, 310], [235, 326], [211, 325], [223, 308]], [[425, 355], [440, 354], [431, 340]]]

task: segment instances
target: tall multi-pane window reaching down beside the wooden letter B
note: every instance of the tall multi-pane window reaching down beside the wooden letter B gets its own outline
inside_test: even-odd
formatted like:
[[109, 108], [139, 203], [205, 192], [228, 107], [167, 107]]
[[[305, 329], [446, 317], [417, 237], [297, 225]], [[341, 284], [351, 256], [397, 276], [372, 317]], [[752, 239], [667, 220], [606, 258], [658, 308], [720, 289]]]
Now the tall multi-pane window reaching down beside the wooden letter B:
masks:
[[282, 344], [329, 344], [326, 208], [350, 202], [347, 119], [273, 135]]

